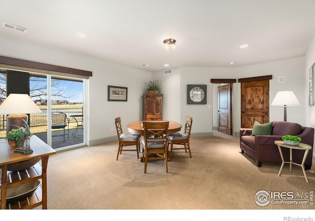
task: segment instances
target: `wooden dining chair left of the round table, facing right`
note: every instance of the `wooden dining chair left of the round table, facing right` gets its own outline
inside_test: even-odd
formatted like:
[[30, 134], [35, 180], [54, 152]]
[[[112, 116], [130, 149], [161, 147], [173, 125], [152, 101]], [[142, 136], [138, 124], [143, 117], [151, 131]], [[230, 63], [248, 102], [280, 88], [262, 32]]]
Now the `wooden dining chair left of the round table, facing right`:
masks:
[[[124, 133], [120, 117], [117, 117], [115, 119], [115, 125], [116, 125], [118, 141], [119, 141], [116, 161], [118, 161], [119, 153], [122, 154], [123, 151], [136, 151], [137, 159], [139, 159], [141, 135]], [[123, 149], [124, 146], [133, 146], [133, 145], [136, 146], [135, 149]]]

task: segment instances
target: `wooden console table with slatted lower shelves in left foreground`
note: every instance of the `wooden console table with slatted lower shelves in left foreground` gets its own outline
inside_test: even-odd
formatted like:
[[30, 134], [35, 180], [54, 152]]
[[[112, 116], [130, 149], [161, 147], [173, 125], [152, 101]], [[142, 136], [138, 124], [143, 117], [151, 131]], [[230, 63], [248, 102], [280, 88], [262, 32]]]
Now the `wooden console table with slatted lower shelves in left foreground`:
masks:
[[[44, 141], [36, 136], [30, 139], [33, 153], [22, 154], [14, 153], [14, 142], [8, 142], [5, 139], [0, 139], [0, 169], [1, 169], [1, 209], [32, 209], [42, 205], [43, 209], [47, 209], [47, 164], [49, 155], [55, 154], [56, 151], [47, 145]], [[21, 162], [31, 161], [40, 158], [41, 165], [35, 165], [20, 169], [19, 171], [8, 171], [8, 167], [12, 164], [20, 164]], [[42, 180], [42, 188], [39, 186], [36, 191], [25, 199], [20, 199], [18, 202], [7, 203], [7, 189], [17, 187], [38, 179]]]

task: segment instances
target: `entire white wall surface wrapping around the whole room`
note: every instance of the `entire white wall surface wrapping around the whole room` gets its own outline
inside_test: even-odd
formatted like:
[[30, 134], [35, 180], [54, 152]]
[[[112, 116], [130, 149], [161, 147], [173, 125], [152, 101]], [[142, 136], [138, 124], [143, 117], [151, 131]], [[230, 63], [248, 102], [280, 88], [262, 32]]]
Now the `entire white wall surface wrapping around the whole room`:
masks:
[[[121, 116], [123, 127], [142, 119], [142, 94], [144, 83], [159, 80], [162, 83], [164, 119], [185, 122], [185, 116], [193, 118], [196, 136], [211, 136], [214, 113], [210, 79], [239, 79], [272, 75], [270, 80], [270, 104], [279, 90], [293, 90], [300, 106], [287, 108], [288, 121], [315, 127], [315, 107], [308, 106], [308, 70], [315, 62], [315, 40], [308, 54], [298, 57], [239, 68], [174, 68], [173, 74], [163, 71], [151, 73], [101, 59], [66, 52], [47, 46], [33, 45], [0, 36], [0, 55], [83, 69], [93, 72], [89, 80], [89, 126], [90, 144], [116, 139], [114, 118]], [[284, 83], [278, 78], [284, 77]], [[207, 84], [207, 105], [187, 105], [187, 84]], [[127, 102], [107, 102], [107, 85], [128, 87]], [[240, 128], [240, 83], [234, 83], [234, 131]], [[308, 115], [310, 113], [310, 115]], [[309, 122], [309, 119], [311, 121]], [[270, 106], [270, 120], [283, 120], [283, 108]]]

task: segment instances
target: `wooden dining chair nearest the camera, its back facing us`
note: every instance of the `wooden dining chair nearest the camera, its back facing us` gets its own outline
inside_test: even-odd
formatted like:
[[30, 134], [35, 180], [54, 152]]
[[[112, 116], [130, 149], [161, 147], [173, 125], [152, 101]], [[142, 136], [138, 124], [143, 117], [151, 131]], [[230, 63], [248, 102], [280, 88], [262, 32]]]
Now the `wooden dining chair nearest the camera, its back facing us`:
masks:
[[[169, 121], [143, 122], [142, 154], [144, 157], [144, 173], [147, 173], [148, 160], [164, 160], [167, 167], [167, 135]], [[154, 156], [152, 156], [154, 155]]]

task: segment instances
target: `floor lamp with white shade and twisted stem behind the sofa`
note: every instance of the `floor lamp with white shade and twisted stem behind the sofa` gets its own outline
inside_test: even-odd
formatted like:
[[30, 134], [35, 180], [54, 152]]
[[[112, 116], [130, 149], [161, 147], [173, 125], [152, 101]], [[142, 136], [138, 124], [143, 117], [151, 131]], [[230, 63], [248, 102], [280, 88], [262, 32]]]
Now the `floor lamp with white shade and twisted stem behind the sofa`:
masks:
[[299, 106], [300, 103], [293, 91], [278, 91], [271, 105], [284, 106], [284, 121], [286, 121], [286, 106]]

